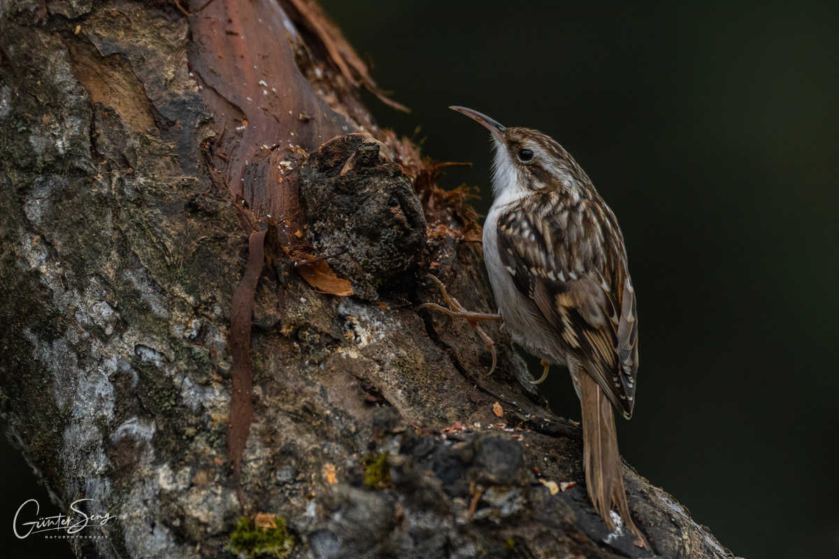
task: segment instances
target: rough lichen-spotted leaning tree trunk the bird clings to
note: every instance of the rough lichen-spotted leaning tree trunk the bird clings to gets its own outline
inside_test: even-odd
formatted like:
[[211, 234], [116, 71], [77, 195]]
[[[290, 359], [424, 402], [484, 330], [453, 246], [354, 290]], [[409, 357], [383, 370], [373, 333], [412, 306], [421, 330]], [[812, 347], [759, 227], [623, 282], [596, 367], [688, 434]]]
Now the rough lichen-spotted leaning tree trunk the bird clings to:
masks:
[[[0, 411], [57, 504], [117, 515], [79, 556], [232, 556], [257, 513], [293, 556], [650, 555], [607, 532], [503, 332], [487, 376], [466, 323], [415, 312], [429, 273], [491, 310], [474, 216], [373, 125], [316, 6], [5, 0], [0, 56]], [[351, 297], [294, 265], [341, 251]], [[625, 474], [654, 552], [729, 556]]]

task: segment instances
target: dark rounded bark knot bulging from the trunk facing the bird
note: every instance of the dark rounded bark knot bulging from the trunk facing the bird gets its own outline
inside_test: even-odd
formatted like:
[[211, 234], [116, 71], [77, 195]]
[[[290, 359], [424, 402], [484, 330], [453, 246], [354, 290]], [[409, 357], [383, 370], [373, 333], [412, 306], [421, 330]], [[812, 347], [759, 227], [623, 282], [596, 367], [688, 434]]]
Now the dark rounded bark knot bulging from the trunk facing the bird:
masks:
[[362, 298], [404, 287], [416, 277], [425, 246], [425, 215], [388, 148], [366, 134], [326, 142], [300, 168], [306, 241]]

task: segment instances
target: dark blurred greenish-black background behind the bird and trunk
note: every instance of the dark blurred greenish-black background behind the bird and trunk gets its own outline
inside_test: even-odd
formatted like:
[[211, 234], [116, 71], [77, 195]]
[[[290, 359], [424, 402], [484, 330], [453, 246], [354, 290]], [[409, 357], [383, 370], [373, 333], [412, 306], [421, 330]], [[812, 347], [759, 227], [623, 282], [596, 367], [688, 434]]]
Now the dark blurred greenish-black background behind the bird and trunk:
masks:
[[[628, 463], [737, 556], [839, 556], [839, 4], [320, 3], [413, 109], [367, 96], [378, 123], [474, 163], [441, 184], [482, 214], [488, 134], [450, 105], [555, 137], [612, 207], [640, 317]], [[545, 395], [579, 420], [567, 377]], [[21, 492], [44, 515], [0, 439], [0, 522]]]

